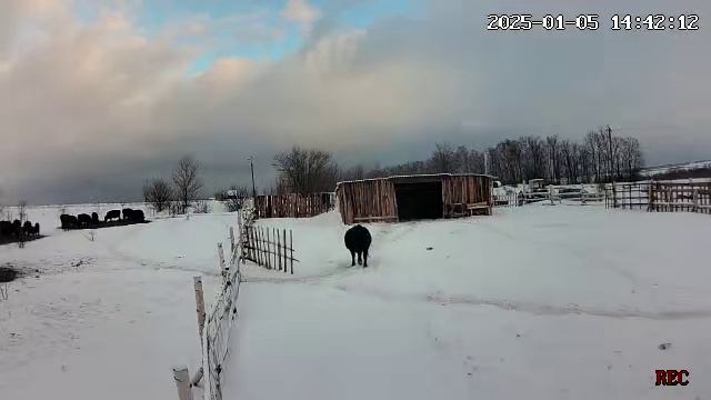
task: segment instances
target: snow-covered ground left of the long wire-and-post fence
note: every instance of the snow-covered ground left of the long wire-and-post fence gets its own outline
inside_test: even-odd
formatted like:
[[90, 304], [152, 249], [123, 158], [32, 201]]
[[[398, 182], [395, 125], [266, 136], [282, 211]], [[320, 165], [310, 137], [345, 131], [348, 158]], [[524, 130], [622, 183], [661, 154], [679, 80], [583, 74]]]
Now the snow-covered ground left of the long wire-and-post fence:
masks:
[[0, 247], [0, 266], [29, 272], [0, 301], [0, 398], [176, 399], [171, 366], [194, 371], [200, 353], [192, 277], [209, 302], [236, 214], [97, 229], [91, 241], [50, 228], [58, 207], [28, 212], [49, 237]]

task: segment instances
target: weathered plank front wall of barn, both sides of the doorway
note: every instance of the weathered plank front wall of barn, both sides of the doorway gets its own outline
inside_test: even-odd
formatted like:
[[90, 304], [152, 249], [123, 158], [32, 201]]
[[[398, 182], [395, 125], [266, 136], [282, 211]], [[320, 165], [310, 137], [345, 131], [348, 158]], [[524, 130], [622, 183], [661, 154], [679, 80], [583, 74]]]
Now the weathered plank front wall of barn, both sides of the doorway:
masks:
[[[442, 217], [491, 214], [491, 178], [442, 176], [438, 179], [442, 181]], [[337, 196], [343, 223], [398, 221], [394, 183], [389, 179], [343, 182]]]

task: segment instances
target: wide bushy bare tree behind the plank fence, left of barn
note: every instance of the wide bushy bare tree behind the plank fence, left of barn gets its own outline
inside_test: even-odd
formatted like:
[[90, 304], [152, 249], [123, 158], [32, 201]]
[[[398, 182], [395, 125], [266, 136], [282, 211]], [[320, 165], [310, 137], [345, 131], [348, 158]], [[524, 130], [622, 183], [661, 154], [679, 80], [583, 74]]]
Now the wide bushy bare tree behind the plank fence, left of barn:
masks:
[[274, 156], [273, 166], [279, 172], [278, 191], [300, 194], [332, 191], [338, 180], [338, 166], [331, 153], [322, 150], [293, 147]]

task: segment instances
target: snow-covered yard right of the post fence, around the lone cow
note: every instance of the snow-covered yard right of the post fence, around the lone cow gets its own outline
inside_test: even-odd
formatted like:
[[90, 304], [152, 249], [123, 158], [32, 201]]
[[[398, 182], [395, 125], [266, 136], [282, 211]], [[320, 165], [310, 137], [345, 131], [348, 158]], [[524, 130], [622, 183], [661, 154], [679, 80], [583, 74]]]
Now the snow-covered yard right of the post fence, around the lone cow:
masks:
[[262, 220], [293, 229], [301, 262], [247, 269], [226, 399], [708, 398], [709, 222], [530, 206], [370, 224], [361, 269], [334, 213]]

